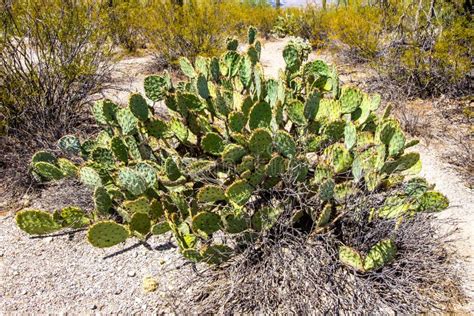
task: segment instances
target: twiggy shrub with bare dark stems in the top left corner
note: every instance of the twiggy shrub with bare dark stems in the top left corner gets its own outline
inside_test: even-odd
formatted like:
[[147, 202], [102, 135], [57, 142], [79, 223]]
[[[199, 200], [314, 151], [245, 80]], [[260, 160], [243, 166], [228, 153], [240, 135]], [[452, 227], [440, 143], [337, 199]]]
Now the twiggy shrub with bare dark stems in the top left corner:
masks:
[[108, 75], [99, 8], [77, 1], [2, 3], [0, 109], [8, 130], [56, 141], [80, 124]]

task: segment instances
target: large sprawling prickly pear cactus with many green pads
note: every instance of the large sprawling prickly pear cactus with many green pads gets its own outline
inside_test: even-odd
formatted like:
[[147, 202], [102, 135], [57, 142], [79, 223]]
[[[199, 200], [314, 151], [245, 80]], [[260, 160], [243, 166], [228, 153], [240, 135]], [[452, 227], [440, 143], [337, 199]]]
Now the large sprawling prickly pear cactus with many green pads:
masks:
[[[376, 114], [379, 95], [341, 87], [335, 69], [306, 61], [310, 49], [300, 40], [284, 49], [279, 78], [266, 79], [254, 28], [247, 44], [241, 51], [229, 39], [220, 57], [194, 64], [181, 58], [185, 81], [149, 76], [146, 98], [132, 94], [127, 107], [96, 103], [102, 131], [85, 141], [67, 135], [58, 144], [82, 163], [46, 152], [32, 159], [38, 180], [75, 176], [93, 189], [94, 212], [24, 210], [18, 226], [47, 234], [90, 225], [87, 238], [96, 247], [171, 231], [187, 259], [219, 264], [236, 245], [269, 234], [282, 216], [287, 225], [327, 232], [354, 211], [348, 201], [356, 197], [380, 193], [371, 217], [384, 220], [448, 206], [414, 177], [419, 155], [406, 149], [416, 142], [390, 109]], [[157, 102], [170, 120], [155, 115]], [[370, 246], [364, 255], [340, 245], [341, 262], [364, 272], [396, 259], [394, 240]]]

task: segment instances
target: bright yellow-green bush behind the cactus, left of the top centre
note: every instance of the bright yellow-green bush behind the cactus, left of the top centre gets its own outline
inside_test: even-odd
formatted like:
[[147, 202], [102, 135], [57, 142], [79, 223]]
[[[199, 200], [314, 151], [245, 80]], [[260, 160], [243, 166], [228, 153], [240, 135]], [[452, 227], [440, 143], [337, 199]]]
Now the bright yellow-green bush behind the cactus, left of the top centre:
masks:
[[220, 54], [225, 39], [242, 35], [249, 25], [268, 34], [275, 16], [275, 9], [260, 3], [204, 0], [177, 5], [156, 1], [149, 5], [146, 34], [166, 62], [180, 56], [194, 60], [197, 55]]

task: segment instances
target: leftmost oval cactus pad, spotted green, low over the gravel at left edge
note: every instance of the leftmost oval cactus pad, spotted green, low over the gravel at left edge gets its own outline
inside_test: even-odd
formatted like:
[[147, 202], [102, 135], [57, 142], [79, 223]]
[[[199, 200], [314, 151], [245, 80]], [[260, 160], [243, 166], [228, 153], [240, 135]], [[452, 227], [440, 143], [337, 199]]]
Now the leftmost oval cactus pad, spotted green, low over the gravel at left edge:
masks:
[[51, 213], [40, 210], [22, 210], [15, 216], [17, 226], [30, 235], [45, 235], [61, 229]]

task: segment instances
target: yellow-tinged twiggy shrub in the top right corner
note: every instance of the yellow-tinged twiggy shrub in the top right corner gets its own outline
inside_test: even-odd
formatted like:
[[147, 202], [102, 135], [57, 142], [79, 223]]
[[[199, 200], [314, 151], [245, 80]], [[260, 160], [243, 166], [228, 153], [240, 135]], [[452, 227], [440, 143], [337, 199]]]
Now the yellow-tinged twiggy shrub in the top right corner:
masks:
[[454, 4], [431, 8], [422, 1], [407, 6], [381, 56], [380, 72], [404, 85], [408, 95], [431, 96], [472, 91], [474, 24]]

